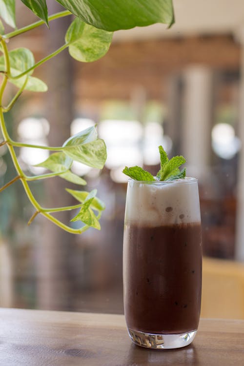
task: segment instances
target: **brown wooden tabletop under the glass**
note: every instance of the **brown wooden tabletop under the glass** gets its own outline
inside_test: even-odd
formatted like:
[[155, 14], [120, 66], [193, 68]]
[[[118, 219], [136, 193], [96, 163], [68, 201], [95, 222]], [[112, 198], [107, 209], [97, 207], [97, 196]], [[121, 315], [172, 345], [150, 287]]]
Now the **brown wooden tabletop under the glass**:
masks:
[[244, 366], [244, 321], [202, 319], [192, 345], [131, 343], [122, 315], [0, 309], [0, 366]]

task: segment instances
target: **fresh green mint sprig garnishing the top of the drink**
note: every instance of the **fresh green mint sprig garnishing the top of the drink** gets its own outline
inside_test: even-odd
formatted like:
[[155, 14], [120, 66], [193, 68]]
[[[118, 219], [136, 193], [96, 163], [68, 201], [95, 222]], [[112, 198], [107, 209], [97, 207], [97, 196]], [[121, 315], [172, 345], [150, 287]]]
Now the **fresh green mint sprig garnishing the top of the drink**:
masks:
[[156, 179], [151, 173], [142, 169], [140, 166], [132, 166], [128, 168], [127, 166], [123, 169], [123, 173], [128, 175], [130, 178], [136, 181], [173, 181], [176, 179], [185, 178], [185, 168], [180, 170], [180, 166], [185, 163], [185, 158], [180, 156], [174, 156], [169, 160], [167, 153], [163, 149], [163, 146], [159, 146], [160, 152], [160, 170], [157, 173]]

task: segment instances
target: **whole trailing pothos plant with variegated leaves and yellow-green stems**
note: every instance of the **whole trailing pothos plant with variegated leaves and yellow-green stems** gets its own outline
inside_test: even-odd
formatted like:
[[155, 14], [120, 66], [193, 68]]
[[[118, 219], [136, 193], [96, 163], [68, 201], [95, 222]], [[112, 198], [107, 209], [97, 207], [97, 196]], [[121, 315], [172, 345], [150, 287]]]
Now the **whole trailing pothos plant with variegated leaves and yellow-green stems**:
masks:
[[[99, 219], [104, 210], [104, 204], [96, 197], [96, 190], [86, 192], [83, 190], [67, 189], [77, 201], [76, 205], [66, 207], [45, 208], [35, 199], [30, 189], [29, 182], [59, 176], [69, 182], [85, 185], [83, 178], [71, 172], [73, 161], [84, 163], [88, 166], [102, 169], [106, 161], [106, 146], [98, 137], [96, 127], [87, 128], [70, 137], [62, 146], [40, 146], [14, 141], [8, 133], [4, 114], [15, 104], [24, 90], [45, 92], [47, 85], [32, 76], [34, 70], [46, 61], [57, 56], [68, 48], [71, 57], [81, 62], [91, 62], [100, 59], [106, 54], [112, 41], [113, 32], [119, 29], [129, 29], [135, 26], [146, 26], [161, 22], [171, 26], [174, 23], [172, 0], [57, 0], [65, 10], [60, 13], [48, 15], [45, 0], [21, 0], [37, 17], [39, 21], [18, 29], [15, 17], [15, 0], [0, 0], [0, 17], [14, 30], [4, 32], [0, 20], [0, 129], [3, 140], [0, 146], [6, 144], [14, 163], [17, 175], [10, 182], [0, 188], [0, 191], [10, 184], [20, 180], [28, 199], [34, 206], [33, 219], [41, 214], [62, 229], [75, 234], [81, 234], [90, 226], [100, 229]], [[73, 14], [75, 19], [71, 22], [65, 36], [64, 44], [51, 54], [36, 62], [33, 53], [27, 48], [11, 49], [11, 39], [50, 21]], [[8, 82], [17, 86], [18, 90], [13, 99], [3, 105], [3, 96]], [[18, 161], [16, 147], [34, 147], [47, 149], [52, 153], [49, 158], [38, 166], [44, 167], [50, 173], [27, 176]], [[53, 213], [65, 210], [80, 209], [71, 221], [81, 221], [81, 228], [75, 229], [57, 220]], [[96, 213], [95, 213], [95, 212]]]

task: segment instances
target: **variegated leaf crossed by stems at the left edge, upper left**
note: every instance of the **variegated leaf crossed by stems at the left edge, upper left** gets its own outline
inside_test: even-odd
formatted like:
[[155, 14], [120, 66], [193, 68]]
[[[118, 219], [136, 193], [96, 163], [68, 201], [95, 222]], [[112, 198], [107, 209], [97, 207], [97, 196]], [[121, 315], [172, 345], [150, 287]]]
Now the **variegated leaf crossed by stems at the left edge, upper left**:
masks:
[[[28, 70], [35, 64], [35, 59], [33, 53], [28, 48], [17, 48], [9, 52], [9, 61], [10, 61], [10, 72], [12, 76], [18, 76], [25, 70]], [[5, 61], [4, 57], [0, 57], [0, 71], [5, 70]], [[28, 80], [25, 85], [26, 90], [35, 91], [35, 92], [45, 92], [47, 90], [47, 85], [38, 78], [30, 77], [33, 73], [33, 70], [30, 71], [27, 75]], [[19, 79], [9, 79], [14, 85], [18, 88], [25, 82], [26, 76], [23, 76]]]

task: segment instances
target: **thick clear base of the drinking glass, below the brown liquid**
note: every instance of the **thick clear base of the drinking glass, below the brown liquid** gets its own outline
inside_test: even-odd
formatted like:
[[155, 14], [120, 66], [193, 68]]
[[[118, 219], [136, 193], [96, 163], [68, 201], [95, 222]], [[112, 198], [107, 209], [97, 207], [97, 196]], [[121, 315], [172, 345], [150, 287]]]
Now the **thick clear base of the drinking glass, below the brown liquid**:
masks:
[[171, 349], [188, 346], [195, 338], [197, 330], [181, 334], [151, 334], [129, 329], [131, 340], [138, 346], [154, 349]]

